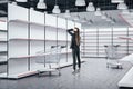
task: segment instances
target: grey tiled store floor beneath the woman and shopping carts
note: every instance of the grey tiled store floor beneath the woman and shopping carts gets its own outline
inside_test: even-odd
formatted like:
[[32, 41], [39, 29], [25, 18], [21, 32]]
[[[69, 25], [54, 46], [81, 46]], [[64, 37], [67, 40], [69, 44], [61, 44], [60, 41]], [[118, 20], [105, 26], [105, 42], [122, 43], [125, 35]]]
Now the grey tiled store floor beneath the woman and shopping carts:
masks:
[[[119, 89], [119, 80], [131, 68], [124, 62], [123, 69], [108, 69], [105, 59], [88, 58], [80, 73], [72, 75], [72, 67], [61, 69], [61, 76], [47, 73], [19, 80], [0, 79], [0, 89]], [[0, 72], [6, 66], [0, 66]]]

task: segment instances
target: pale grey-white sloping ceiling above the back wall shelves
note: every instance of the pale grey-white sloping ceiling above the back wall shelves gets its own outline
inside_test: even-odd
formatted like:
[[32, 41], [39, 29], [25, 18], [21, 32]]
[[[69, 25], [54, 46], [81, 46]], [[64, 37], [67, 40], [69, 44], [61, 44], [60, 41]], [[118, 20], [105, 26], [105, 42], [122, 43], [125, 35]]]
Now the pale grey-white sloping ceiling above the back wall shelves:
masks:
[[[80, 21], [84, 17], [88, 20], [93, 21], [92, 24], [82, 23], [82, 28], [111, 28], [111, 27], [125, 28], [125, 27], [131, 27], [122, 17], [120, 17], [120, 14], [121, 14], [120, 10], [110, 10], [110, 11], [104, 11], [104, 12], [106, 12], [108, 16], [114, 18], [116, 23], [112, 24], [111, 22], [108, 22], [106, 20], [101, 19], [101, 17], [94, 16], [94, 12], [74, 12], [74, 13], [71, 13], [72, 17], [69, 19], [73, 20], [73, 18], [79, 14]], [[64, 18], [64, 14], [62, 13], [59, 17]]]

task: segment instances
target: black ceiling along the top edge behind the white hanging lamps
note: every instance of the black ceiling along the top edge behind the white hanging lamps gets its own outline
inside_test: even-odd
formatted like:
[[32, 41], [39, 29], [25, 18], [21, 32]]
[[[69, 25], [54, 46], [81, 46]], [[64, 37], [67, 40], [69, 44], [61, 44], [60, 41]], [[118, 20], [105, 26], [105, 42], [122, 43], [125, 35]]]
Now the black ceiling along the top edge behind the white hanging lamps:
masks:
[[[14, 0], [8, 0], [8, 1], [14, 1]], [[47, 10], [37, 9], [37, 3], [39, 2], [39, 0], [28, 0], [28, 2], [18, 2], [18, 6], [22, 6], [25, 8], [34, 7], [34, 9], [38, 11], [48, 11], [49, 13], [51, 13], [55, 4], [55, 0], [44, 0], [44, 1], [48, 6]], [[86, 6], [90, 1], [94, 3], [94, 7], [100, 7], [102, 10], [116, 10], [117, 7], [117, 3], [111, 3], [111, 0], [85, 0]], [[125, 0], [125, 3], [129, 6], [129, 9], [133, 9], [133, 0]], [[86, 9], [86, 6], [76, 7], [75, 0], [57, 0], [57, 4], [59, 4], [62, 12], [64, 12], [65, 9], [70, 9], [71, 12], [82, 12], [85, 11]], [[0, 3], [0, 10], [4, 10], [7, 12], [7, 8], [4, 3], [3, 4]]]

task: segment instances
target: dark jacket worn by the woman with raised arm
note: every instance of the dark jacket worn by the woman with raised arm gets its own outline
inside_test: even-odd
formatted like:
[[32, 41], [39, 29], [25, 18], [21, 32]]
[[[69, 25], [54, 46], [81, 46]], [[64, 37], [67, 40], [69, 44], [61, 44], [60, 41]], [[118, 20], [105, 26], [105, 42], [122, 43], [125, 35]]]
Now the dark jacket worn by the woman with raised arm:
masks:
[[72, 48], [72, 49], [79, 48], [79, 46], [76, 44], [76, 41], [75, 41], [75, 33], [72, 32], [73, 29], [68, 29], [66, 31], [72, 36], [70, 48]]

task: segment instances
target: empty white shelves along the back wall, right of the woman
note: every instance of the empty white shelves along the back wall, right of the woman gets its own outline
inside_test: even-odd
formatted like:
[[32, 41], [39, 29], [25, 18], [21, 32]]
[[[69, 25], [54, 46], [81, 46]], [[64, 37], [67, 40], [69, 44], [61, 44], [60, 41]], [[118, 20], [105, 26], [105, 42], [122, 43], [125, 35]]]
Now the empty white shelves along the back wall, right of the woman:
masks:
[[82, 32], [83, 57], [105, 57], [104, 44], [120, 44], [117, 52], [123, 56], [133, 52], [132, 40], [121, 40], [117, 37], [132, 37], [133, 28], [95, 28]]

